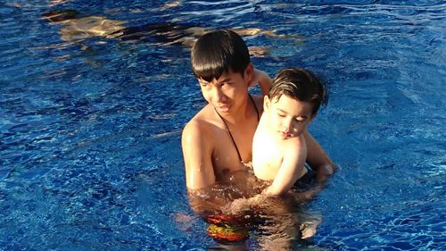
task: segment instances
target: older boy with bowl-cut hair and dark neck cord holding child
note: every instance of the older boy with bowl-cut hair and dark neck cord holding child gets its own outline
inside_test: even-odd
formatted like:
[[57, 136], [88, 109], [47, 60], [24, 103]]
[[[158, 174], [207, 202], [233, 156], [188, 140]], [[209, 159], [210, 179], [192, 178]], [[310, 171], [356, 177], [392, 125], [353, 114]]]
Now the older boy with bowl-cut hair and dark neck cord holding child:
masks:
[[[253, 68], [244, 40], [230, 30], [207, 33], [195, 43], [192, 70], [208, 102], [182, 136], [189, 190], [209, 188], [244, 170], [252, 161], [252, 138], [262, 111], [263, 98], [251, 96], [248, 87], [259, 82], [268, 93], [271, 79]], [[307, 162], [320, 177], [333, 172], [332, 161], [307, 130]]]

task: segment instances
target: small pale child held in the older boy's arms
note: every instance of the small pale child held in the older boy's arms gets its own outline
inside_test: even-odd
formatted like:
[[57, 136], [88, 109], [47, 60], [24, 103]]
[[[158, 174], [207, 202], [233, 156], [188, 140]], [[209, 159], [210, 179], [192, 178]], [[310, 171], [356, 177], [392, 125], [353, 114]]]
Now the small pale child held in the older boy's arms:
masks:
[[268, 96], [252, 142], [252, 165], [257, 178], [272, 180], [263, 193], [280, 196], [307, 169], [307, 126], [326, 104], [326, 92], [310, 71], [290, 68], [279, 71]]

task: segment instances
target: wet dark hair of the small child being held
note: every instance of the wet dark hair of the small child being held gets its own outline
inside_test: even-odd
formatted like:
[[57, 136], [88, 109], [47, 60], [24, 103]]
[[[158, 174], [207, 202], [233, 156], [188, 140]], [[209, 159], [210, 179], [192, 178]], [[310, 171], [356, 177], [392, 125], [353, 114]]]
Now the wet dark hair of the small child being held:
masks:
[[326, 105], [328, 101], [321, 80], [313, 72], [299, 68], [287, 68], [277, 72], [268, 97], [273, 100], [282, 95], [302, 102], [310, 102], [313, 104], [313, 114], [318, 113], [320, 105]]

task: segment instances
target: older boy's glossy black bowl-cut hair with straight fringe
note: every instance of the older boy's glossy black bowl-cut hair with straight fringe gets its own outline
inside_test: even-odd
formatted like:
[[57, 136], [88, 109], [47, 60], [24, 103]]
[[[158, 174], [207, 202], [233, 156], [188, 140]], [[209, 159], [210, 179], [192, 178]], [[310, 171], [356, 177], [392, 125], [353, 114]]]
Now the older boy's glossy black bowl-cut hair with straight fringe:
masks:
[[221, 29], [204, 34], [191, 52], [191, 65], [198, 79], [210, 82], [229, 71], [244, 74], [250, 63], [248, 47], [232, 30]]

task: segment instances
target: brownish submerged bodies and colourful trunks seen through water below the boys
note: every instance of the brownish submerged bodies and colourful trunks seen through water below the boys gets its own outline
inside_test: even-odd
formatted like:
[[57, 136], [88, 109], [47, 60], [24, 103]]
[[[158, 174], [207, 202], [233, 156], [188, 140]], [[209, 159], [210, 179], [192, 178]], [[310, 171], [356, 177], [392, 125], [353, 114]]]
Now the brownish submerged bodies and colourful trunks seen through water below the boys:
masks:
[[318, 213], [304, 209], [315, 187], [264, 197], [261, 191], [267, 186], [252, 173], [238, 171], [210, 188], [189, 191], [189, 203], [208, 223], [208, 236], [222, 245], [242, 248], [249, 238], [261, 250], [292, 250], [307, 244], [321, 222]]

